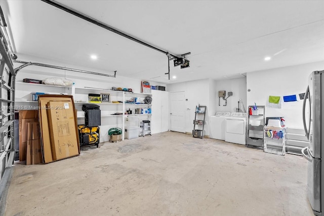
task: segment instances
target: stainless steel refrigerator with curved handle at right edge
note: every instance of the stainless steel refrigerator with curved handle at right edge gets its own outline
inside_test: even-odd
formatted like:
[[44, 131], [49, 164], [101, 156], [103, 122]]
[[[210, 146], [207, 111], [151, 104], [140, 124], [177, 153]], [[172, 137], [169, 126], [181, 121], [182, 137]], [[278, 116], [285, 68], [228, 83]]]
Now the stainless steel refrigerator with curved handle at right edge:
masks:
[[[321, 116], [323, 113], [323, 116]], [[302, 149], [307, 165], [307, 194], [315, 215], [324, 215], [324, 70], [308, 77], [303, 123], [309, 146]]]

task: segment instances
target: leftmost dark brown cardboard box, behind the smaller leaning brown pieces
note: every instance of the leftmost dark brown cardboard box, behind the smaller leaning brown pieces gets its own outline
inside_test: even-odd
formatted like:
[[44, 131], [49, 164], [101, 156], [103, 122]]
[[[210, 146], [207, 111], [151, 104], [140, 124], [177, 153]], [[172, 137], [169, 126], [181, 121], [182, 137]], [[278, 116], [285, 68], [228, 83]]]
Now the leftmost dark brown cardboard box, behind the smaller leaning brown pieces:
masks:
[[19, 160], [26, 160], [28, 122], [38, 121], [37, 110], [19, 110]]

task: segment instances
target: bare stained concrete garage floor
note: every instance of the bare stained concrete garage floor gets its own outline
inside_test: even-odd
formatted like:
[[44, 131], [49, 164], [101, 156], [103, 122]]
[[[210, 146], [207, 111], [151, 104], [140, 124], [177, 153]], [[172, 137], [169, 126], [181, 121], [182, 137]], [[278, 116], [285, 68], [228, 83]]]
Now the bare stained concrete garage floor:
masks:
[[5, 215], [313, 215], [306, 165], [166, 132], [14, 165]]

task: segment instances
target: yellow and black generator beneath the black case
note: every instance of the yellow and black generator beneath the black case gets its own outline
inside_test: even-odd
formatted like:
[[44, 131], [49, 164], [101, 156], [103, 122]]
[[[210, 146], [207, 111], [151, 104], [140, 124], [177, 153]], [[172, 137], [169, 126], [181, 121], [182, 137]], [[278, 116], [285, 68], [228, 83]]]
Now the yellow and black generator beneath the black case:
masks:
[[84, 124], [78, 125], [80, 146], [94, 144], [99, 146], [99, 126], [86, 127]]

